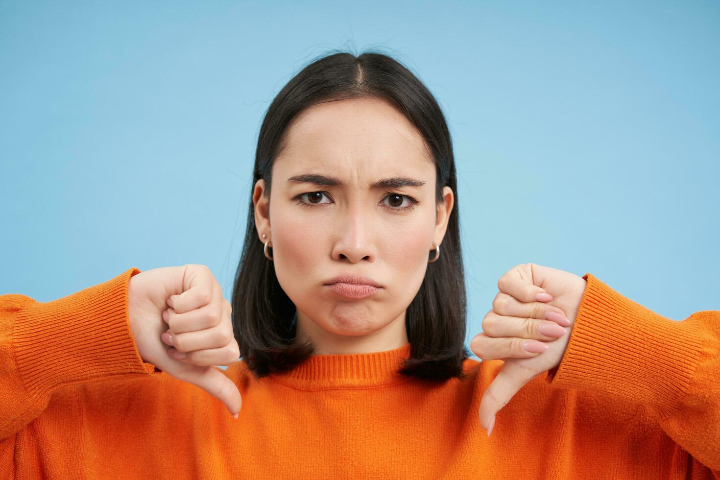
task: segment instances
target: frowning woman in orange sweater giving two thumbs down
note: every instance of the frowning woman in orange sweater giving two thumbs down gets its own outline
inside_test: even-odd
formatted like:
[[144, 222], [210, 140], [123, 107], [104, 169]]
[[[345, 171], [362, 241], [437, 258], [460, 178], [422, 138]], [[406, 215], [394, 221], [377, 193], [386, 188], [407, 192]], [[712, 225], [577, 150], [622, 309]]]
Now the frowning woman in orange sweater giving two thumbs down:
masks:
[[720, 479], [720, 311], [526, 263], [469, 358], [451, 138], [396, 60], [304, 68], [253, 178], [231, 302], [194, 264], [0, 296], [3, 478]]

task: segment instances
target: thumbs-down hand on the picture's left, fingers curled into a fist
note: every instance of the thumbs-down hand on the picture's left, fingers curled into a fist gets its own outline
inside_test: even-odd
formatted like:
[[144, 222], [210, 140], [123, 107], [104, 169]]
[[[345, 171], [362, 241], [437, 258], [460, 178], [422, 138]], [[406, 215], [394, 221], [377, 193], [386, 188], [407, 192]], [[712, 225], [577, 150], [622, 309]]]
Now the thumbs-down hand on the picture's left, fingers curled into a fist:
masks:
[[[130, 327], [143, 361], [199, 386], [237, 415], [242, 405], [238, 387], [212, 367], [238, 361], [240, 347], [232, 307], [210, 268], [191, 263], [143, 271], [130, 277], [128, 294]], [[165, 343], [165, 332], [173, 347]], [[171, 357], [178, 352], [185, 358]]]

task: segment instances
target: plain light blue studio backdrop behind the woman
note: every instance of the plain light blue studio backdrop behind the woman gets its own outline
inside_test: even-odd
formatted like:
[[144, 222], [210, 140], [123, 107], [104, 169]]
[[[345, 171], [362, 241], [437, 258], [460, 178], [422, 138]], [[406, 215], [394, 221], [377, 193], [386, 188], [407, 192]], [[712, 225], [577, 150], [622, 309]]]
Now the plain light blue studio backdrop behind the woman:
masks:
[[717, 1], [0, 1], [0, 294], [210, 266], [232, 291], [275, 94], [380, 47], [454, 140], [469, 341], [518, 263], [720, 308]]

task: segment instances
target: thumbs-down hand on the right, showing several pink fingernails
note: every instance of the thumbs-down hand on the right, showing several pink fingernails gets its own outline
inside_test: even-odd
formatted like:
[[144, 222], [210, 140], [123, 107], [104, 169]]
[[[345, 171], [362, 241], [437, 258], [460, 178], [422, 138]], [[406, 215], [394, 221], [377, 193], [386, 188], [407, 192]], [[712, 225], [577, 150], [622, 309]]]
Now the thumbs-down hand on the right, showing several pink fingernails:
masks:
[[[482, 320], [483, 331], [470, 342], [478, 358], [505, 361], [480, 401], [480, 425], [488, 430], [488, 436], [495, 414], [513, 395], [536, 376], [559, 366], [586, 284], [577, 275], [535, 263], [518, 265], [498, 280], [500, 292]], [[560, 325], [565, 334], [557, 338], [544, 335], [538, 330], [541, 325]], [[523, 350], [526, 340], [548, 349], [542, 353]]]

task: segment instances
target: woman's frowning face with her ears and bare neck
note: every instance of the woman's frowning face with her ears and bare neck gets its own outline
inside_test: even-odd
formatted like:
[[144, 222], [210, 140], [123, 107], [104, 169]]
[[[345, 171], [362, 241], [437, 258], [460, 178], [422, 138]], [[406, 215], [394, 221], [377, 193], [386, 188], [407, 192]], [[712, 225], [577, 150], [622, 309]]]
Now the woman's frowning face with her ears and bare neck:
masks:
[[[414, 185], [373, 186], [392, 178]], [[289, 126], [272, 181], [269, 208], [264, 181], [255, 185], [255, 219], [261, 241], [270, 240], [279, 284], [297, 307], [296, 343], [312, 340], [320, 355], [408, 343], [405, 309], [454, 201], [446, 186], [444, 204], [436, 204], [435, 166], [408, 119], [380, 99], [310, 107]], [[342, 274], [381, 288], [348, 298], [328, 286]]]

